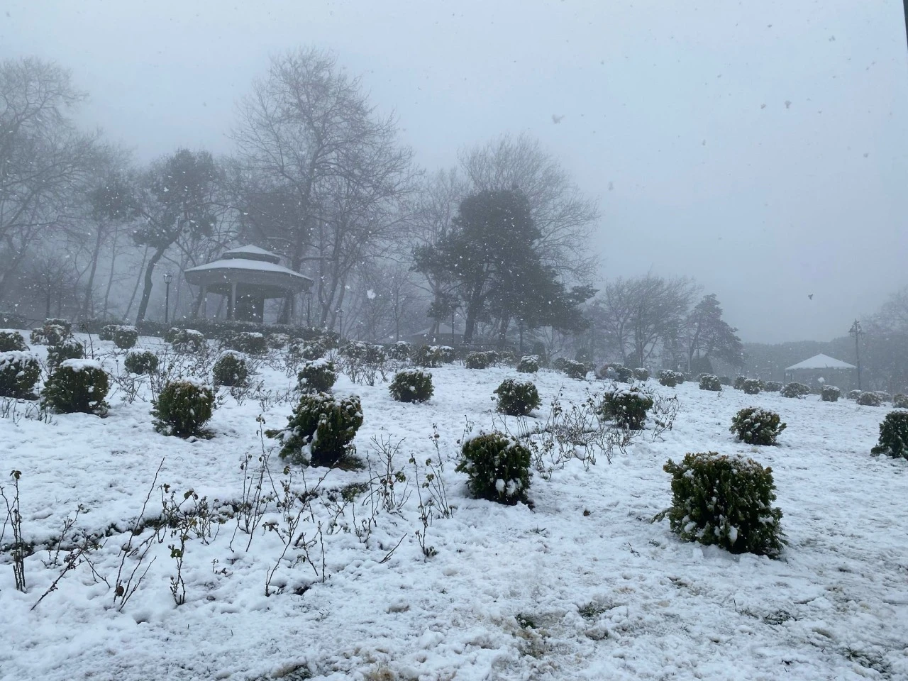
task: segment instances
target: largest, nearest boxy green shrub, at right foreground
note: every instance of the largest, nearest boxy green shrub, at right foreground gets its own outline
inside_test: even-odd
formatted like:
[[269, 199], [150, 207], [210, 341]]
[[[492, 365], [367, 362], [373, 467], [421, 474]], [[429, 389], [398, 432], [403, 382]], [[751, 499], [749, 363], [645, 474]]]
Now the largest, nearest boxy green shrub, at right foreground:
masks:
[[785, 542], [782, 510], [773, 508], [773, 469], [753, 459], [716, 452], [668, 459], [672, 506], [665, 511], [672, 531], [686, 541], [715, 544], [731, 553], [775, 557]]

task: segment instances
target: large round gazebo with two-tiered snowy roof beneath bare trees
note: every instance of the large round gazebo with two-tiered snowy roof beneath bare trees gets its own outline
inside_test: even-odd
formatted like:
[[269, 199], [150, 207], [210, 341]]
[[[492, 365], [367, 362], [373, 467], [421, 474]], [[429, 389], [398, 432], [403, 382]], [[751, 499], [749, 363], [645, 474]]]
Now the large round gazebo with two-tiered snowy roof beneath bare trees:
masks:
[[280, 262], [280, 255], [247, 245], [183, 273], [186, 281], [202, 287], [202, 301], [209, 293], [227, 297], [228, 320], [261, 322], [266, 299], [289, 300], [296, 293], [309, 291], [312, 285], [309, 277]]

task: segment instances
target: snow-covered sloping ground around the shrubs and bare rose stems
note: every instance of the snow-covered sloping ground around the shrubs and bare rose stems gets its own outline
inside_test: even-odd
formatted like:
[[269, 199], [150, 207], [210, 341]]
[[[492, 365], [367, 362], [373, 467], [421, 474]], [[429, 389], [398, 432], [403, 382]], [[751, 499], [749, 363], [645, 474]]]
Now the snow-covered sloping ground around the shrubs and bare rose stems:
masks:
[[[94, 347], [113, 368], [112, 346], [95, 339]], [[122, 610], [113, 588], [86, 565], [31, 609], [61, 568], [45, 567], [50, 554], [36, 551], [25, 562], [27, 593], [20, 593], [6, 562], [0, 678], [908, 678], [908, 461], [869, 455], [885, 408], [651, 381], [680, 400], [663, 441], [647, 433], [611, 464], [600, 458], [587, 470], [573, 462], [552, 479], [534, 476], [533, 508], [502, 507], [467, 496], [465, 478], [454, 470], [457, 441], [468, 421], [476, 431], [500, 419], [492, 391], [518, 374], [459, 366], [432, 374], [435, 395], [421, 405], [391, 400], [387, 384], [353, 385], [341, 376], [335, 386], [362, 399], [360, 458], [377, 464], [373, 436], [403, 439], [394, 465], [409, 479], [409, 497], [399, 513], [380, 512], [368, 537], [361, 530], [370, 517], [367, 495], [344, 506], [340, 490], [369, 479], [370, 471], [335, 470], [299, 528], [306, 541], [314, 539], [315, 566], [291, 565], [300, 548], [281, 560], [281, 537], [264, 529], [281, 524], [271, 507], [252, 538], [229, 520], [207, 544], [189, 539], [179, 607], [171, 594], [176, 561], [168, 547], [177, 539], [170, 533], [150, 545], [139, 565], [150, 565], [147, 575]], [[267, 366], [257, 379], [275, 392], [295, 382]], [[547, 370], [534, 380], [544, 402], [540, 417], [558, 390], [582, 400], [586, 390], [603, 387]], [[252, 455], [252, 474], [262, 454], [256, 417], [264, 408], [266, 427], [280, 428], [292, 407], [254, 396], [241, 404], [226, 394], [210, 423], [214, 437], [185, 441], [153, 430], [147, 400], [143, 392], [129, 404], [116, 393], [106, 419], [0, 419], [2, 484], [8, 495], [5, 476], [22, 471], [26, 539], [54, 538], [80, 504], [76, 528], [124, 530], [150, 490], [146, 516], [160, 515], [156, 488], [163, 484], [178, 501], [188, 489], [209, 501], [240, 499], [242, 461]], [[777, 447], [749, 447], [728, 433], [735, 411], [750, 405], [776, 410], [787, 422]], [[438, 465], [434, 432], [452, 513], [428, 528], [426, 545], [436, 553], [425, 558], [410, 456], [421, 481], [426, 459]], [[264, 449], [271, 446], [265, 439]], [[744, 453], [773, 468], [789, 542], [781, 559], [682, 543], [667, 521], [650, 522], [670, 502], [666, 459], [706, 450]], [[270, 475], [278, 491], [283, 466], [275, 451]], [[298, 488], [304, 476], [311, 488], [324, 472], [294, 467], [291, 484]], [[420, 491], [425, 498], [427, 490]], [[133, 545], [152, 536], [148, 528]], [[111, 584], [129, 538], [112, 530], [92, 558]], [[137, 564], [127, 558], [125, 567]]]

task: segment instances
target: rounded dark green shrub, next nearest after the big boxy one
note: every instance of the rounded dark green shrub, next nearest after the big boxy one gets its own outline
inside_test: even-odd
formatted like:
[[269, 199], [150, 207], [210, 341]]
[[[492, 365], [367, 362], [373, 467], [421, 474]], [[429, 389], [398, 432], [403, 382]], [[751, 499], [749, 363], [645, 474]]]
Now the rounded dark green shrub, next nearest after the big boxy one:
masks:
[[527, 500], [529, 450], [508, 435], [481, 433], [464, 441], [457, 470], [475, 498], [516, 504]]

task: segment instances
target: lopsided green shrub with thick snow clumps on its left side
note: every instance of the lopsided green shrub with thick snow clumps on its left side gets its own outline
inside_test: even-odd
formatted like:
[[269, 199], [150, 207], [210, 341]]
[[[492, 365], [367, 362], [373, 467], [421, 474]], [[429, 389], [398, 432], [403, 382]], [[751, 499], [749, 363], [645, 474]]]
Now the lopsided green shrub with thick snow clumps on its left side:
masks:
[[361, 425], [360, 398], [318, 392], [300, 398], [286, 429], [266, 430], [265, 435], [281, 440], [281, 459], [333, 466], [356, 452], [352, 440]]

